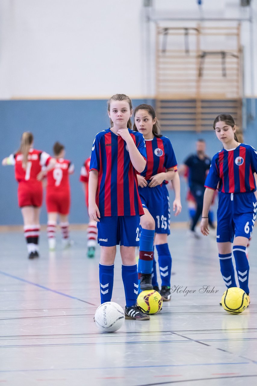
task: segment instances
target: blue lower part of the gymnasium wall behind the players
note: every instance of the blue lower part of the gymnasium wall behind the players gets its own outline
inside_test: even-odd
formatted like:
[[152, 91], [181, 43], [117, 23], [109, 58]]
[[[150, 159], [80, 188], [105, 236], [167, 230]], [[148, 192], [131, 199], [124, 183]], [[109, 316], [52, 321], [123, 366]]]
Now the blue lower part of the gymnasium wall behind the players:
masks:
[[[134, 107], [153, 100], [133, 100]], [[247, 119], [244, 133], [245, 143], [257, 147], [257, 118], [250, 120], [250, 100], [245, 100]], [[257, 100], [255, 100], [257, 111]], [[215, 117], [213, 117], [215, 118]], [[34, 147], [52, 154], [55, 141], [66, 147], [66, 157], [75, 164], [71, 176], [72, 205], [70, 222], [85, 223], [88, 220], [84, 193], [79, 182], [80, 168], [91, 154], [92, 142], [97, 132], [109, 127], [106, 100], [20, 100], [0, 101], [0, 154], [1, 160], [17, 150], [22, 132], [34, 134]], [[195, 141], [203, 138], [207, 142], [207, 154], [211, 157], [221, 149], [214, 130], [201, 132], [164, 132], [170, 138], [178, 164], [195, 151]], [[17, 182], [12, 166], [0, 166], [0, 225], [22, 224], [17, 204]], [[183, 210], [174, 221], [188, 220], [185, 203], [186, 186], [181, 181]], [[171, 201], [173, 193], [171, 192]], [[41, 223], [47, 222], [45, 205], [42, 207]]]

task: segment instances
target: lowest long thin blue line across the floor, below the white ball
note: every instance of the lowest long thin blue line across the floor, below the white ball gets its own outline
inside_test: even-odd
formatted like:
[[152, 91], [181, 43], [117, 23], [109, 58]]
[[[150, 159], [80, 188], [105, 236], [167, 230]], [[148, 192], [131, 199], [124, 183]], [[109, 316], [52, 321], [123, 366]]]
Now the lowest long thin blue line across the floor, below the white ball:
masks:
[[22, 372], [22, 371], [70, 371], [70, 370], [113, 370], [113, 369], [144, 369], [144, 368], [152, 368], [152, 367], [181, 367], [181, 366], [217, 366], [217, 365], [228, 365], [228, 364], [250, 364], [249, 362], [228, 362], [228, 363], [190, 363], [190, 364], [168, 364], [168, 365], [150, 365], [150, 366], [116, 366], [116, 367], [74, 367], [74, 368], [65, 368], [65, 369], [31, 369], [31, 370], [0, 370], [1, 372]]

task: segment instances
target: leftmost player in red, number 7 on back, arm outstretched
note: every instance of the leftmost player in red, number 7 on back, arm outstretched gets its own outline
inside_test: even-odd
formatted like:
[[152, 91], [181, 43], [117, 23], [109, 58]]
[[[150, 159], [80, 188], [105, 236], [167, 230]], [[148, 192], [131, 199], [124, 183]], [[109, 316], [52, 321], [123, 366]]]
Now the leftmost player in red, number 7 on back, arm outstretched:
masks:
[[24, 221], [24, 236], [29, 259], [39, 257], [39, 213], [43, 200], [40, 178], [42, 166], [46, 171], [54, 167], [55, 160], [44, 151], [33, 149], [33, 135], [24, 132], [20, 148], [2, 161], [2, 165], [14, 165], [18, 181], [18, 205]]

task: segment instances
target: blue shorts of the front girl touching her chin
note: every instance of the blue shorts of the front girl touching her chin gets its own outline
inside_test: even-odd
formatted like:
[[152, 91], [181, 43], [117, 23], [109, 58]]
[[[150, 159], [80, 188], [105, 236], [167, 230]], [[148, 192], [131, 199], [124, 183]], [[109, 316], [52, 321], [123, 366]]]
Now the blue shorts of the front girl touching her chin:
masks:
[[98, 244], [104, 247], [139, 246], [140, 216], [102, 216], [97, 222]]

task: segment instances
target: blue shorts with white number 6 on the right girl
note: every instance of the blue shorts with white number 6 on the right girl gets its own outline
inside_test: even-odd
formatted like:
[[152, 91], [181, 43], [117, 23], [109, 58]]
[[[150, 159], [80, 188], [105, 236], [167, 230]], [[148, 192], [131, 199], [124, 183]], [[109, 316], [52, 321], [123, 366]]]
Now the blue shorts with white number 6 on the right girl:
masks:
[[233, 242], [234, 237], [250, 239], [257, 212], [253, 192], [219, 193], [217, 242]]

